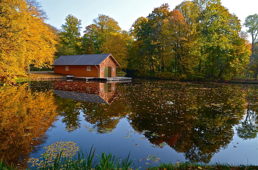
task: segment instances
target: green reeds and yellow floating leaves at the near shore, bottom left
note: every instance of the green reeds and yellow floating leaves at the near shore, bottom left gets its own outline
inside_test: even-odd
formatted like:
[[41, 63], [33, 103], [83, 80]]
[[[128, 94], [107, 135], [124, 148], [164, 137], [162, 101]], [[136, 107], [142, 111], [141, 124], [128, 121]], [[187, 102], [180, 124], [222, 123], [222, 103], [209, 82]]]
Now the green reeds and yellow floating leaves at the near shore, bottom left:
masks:
[[[43, 161], [38, 165], [39, 170], [128, 170], [135, 169], [131, 165], [134, 160], [129, 160], [130, 153], [124, 159], [120, 159], [113, 155], [111, 152], [101, 155], [95, 154], [96, 148], [89, 153], [83, 153], [82, 150], [78, 151], [75, 157], [65, 157], [62, 151], [52, 160], [48, 156], [43, 156]], [[98, 158], [98, 160], [94, 160]]]

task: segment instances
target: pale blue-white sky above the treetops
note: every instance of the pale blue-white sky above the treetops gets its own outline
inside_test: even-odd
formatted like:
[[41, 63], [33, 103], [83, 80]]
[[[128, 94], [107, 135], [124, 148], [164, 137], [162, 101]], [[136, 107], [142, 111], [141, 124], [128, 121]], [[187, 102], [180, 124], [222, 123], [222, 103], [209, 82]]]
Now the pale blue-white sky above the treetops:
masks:
[[[81, 34], [85, 26], [92, 24], [93, 18], [98, 14], [108, 15], [114, 18], [119, 26], [128, 31], [134, 21], [143, 16], [147, 17], [155, 7], [164, 3], [170, 5], [173, 10], [182, 0], [38, 0], [43, 9], [49, 16], [48, 24], [57, 28], [65, 23], [65, 17], [72, 14], [82, 20]], [[229, 12], [236, 14], [244, 23], [248, 15], [258, 13], [258, 1], [256, 0], [221, 0], [223, 6], [229, 9]], [[246, 28], [243, 27], [243, 31]]]

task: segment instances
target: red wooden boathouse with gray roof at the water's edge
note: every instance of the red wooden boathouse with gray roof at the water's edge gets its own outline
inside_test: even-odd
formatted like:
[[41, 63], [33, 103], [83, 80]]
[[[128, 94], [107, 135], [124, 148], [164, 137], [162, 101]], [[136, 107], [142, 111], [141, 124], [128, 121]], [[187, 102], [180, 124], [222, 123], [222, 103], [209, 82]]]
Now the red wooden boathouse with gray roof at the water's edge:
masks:
[[112, 54], [62, 55], [54, 61], [54, 73], [74, 77], [116, 77], [120, 64]]

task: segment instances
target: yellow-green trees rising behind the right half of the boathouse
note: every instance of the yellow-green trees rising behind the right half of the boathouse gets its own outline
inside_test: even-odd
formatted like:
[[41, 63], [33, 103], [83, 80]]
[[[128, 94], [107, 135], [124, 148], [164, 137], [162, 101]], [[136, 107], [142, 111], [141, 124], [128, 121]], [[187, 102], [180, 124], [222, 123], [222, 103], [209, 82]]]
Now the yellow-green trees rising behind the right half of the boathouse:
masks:
[[118, 22], [113, 18], [99, 14], [94, 18], [93, 24], [85, 27], [82, 37], [82, 53], [100, 54], [111, 53], [122, 67], [127, 67], [127, 51], [132, 41], [127, 31], [121, 30]]

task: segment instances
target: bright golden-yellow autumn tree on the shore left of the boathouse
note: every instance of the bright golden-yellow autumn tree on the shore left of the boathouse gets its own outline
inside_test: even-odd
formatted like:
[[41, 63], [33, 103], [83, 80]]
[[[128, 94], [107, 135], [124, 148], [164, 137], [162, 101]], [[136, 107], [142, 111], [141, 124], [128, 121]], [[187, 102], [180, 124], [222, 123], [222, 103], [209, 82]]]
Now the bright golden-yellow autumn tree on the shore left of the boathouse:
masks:
[[12, 83], [14, 74], [26, 74], [30, 64], [50, 67], [55, 35], [36, 0], [0, 1], [0, 81]]

